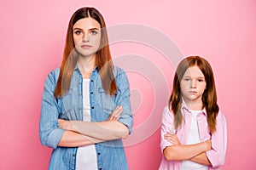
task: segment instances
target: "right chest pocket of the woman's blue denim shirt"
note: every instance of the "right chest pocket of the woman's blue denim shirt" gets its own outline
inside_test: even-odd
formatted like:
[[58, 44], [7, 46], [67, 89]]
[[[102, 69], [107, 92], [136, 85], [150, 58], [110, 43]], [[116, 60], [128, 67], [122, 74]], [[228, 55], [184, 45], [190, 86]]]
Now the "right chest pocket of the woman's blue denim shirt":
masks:
[[110, 94], [106, 94], [103, 88], [97, 88], [96, 100], [102, 111], [105, 113], [111, 114], [111, 112], [115, 109], [116, 105], [114, 103], [114, 97], [110, 96]]

